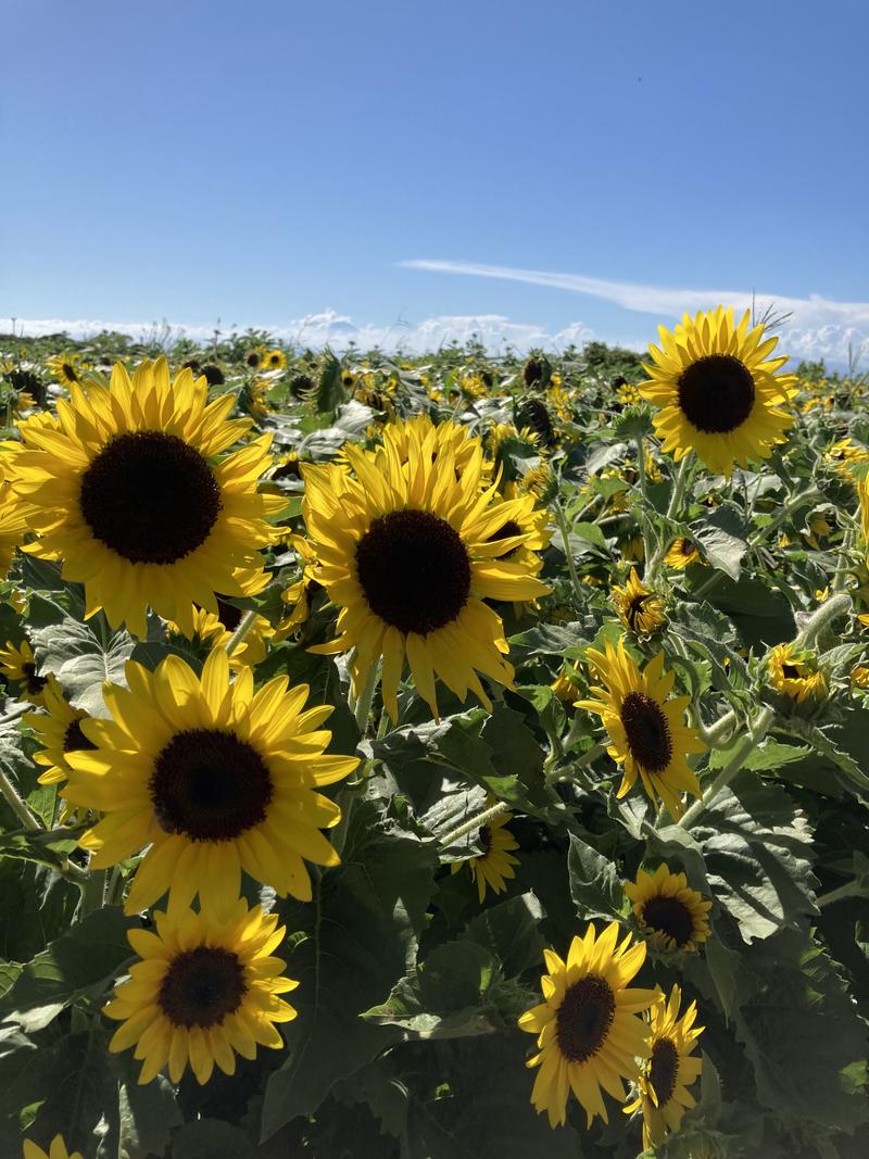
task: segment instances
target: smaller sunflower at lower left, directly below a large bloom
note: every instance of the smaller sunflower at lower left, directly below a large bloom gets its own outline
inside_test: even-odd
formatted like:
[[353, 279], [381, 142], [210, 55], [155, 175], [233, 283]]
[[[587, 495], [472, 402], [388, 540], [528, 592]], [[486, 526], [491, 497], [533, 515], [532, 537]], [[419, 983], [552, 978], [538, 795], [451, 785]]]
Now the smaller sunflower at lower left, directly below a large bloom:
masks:
[[203, 1084], [216, 1063], [233, 1074], [235, 1052], [254, 1058], [257, 1043], [280, 1049], [275, 1023], [291, 1021], [295, 1011], [278, 994], [299, 983], [283, 977], [286, 963], [270, 956], [286, 932], [277, 914], [260, 905], [248, 910], [239, 898], [224, 917], [209, 907], [170, 907], [154, 917], [156, 933], [127, 932], [141, 961], [105, 1006], [109, 1018], [123, 1021], [109, 1049], [136, 1043], [139, 1083], [151, 1083], [167, 1065], [178, 1083], [189, 1063]]

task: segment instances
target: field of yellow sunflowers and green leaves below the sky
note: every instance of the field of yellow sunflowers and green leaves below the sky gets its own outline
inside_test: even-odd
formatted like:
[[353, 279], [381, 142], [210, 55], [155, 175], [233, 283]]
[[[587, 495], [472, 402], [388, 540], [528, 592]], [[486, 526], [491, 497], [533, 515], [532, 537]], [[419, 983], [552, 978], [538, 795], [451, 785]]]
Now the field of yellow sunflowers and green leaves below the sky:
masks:
[[869, 377], [0, 338], [0, 1156], [869, 1154]]

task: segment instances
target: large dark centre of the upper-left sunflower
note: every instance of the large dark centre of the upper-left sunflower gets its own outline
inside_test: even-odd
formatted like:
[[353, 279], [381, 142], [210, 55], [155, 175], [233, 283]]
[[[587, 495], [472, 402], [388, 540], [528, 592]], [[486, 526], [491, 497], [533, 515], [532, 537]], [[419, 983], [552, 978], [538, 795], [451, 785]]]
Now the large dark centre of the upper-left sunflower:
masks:
[[79, 496], [94, 538], [132, 563], [176, 563], [202, 547], [220, 512], [211, 467], [183, 439], [133, 431], [107, 443]]

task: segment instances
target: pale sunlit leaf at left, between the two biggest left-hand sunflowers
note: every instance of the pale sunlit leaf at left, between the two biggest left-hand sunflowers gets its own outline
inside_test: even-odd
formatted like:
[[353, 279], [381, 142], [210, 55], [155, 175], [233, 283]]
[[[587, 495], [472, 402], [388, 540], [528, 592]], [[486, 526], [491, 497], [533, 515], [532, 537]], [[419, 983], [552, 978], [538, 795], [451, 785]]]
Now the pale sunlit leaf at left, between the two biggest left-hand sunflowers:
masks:
[[[31, 599], [49, 605], [39, 596]], [[102, 686], [104, 680], [125, 684], [124, 665], [136, 641], [129, 632], [112, 632], [102, 612], [80, 624], [58, 605], [44, 607], [51, 618], [44, 627], [34, 628], [34, 651], [44, 670], [53, 672], [67, 699], [75, 708], [92, 716], [104, 716]]]

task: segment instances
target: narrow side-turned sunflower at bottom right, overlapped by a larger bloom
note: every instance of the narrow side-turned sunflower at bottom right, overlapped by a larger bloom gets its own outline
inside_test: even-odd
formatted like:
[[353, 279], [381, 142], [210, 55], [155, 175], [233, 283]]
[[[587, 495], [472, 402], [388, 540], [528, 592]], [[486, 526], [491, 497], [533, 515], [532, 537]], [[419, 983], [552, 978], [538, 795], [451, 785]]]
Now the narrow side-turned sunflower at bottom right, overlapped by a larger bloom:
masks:
[[694, 1026], [698, 1004], [692, 1003], [679, 1018], [679, 986], [673, 986], [670, 1001], [664, 1001], [659, 989], [658, 993], [660, 1000], [649, 1014], [651, 1056], [640, 1076], [637, 1098], [625, 1108], [628, 1115], [643, 1110], [644, 1151], [659, 1146], [666, 1135], [679, 1130], [686, 1108], [695, 1106], [688, 1087], [696, 1081], [703, 1065], [692, 1055], [703, 1033], [702, 1026]]

